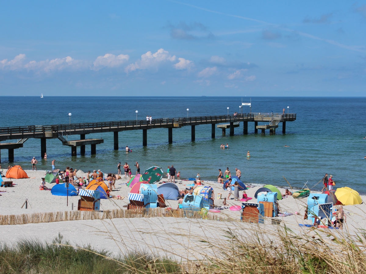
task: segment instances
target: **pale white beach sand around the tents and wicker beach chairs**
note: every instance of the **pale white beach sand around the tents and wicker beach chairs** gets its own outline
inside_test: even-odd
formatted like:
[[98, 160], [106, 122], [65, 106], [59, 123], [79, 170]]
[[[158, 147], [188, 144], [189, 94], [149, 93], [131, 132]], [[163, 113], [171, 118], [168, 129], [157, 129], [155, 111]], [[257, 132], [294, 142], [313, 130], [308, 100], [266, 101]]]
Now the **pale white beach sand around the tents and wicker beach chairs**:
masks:
[[[29, 179], [11, 179], [15, 184], [14, 187], [1, 187], [2, 195], [0, 197], [1, 215], [20, 215], [42, 212], [65, 212], [73, 210], [77, 211], [79, 196], [68, 197], [55, 196], [48, 190], [39, 190], [41, 178], [45, 176], [46, 171], [26, 170]], [[77, 172], [77, 176], [85, 176], [82, 171]], [[4, 180], [10, 180], [3, 178]], [[242, 178], [243, 179], [243, 178]], [[167, 181], [164, 176], [162, 181]], [[116, 190], [113, 195], [120, 195], [124, 199], [101, 199], [100, 209], [126, 209], [123, 206], [129, 203], [127, 194], [130, 187], [126, 186], [128, 179], [122, 176], [122, 179], [116, 180]], [[179, 189], [185, 189], [186, 184], [193, 183], [192, 181], [176, 180]], [[244, 178], [245, 182], [245, 178]], [[213, 187], [214, 203], [216, 206], [223, 206], [224, 197], [227, 197], [228, 191], [223, 190], [223, 184], [203, 181], [204, 185]], [[52, 188], [55, 184], [46, 183], [46, 186]], [[161, 184], [158, 184], [160, 186]], [[255, 191], [258, 186], [251, 187], [246, 190], [248, 197], [253, 197], [250, 202], [257, 202], [254, 198]], [[322, 184], [316, 187], [318, 190], [322, 188]], [[284, 189], [280, 189], [284, 193]], [[293, 191], [296, 191], [294, 189]], [[315, 192], [315, 191], [312, 191]], [[320, 192], [320, 191], [318, 191]], [[222, 199], [217, 199], [217, 194], [222, 194]], [[240, 201], [234, 201], [234, 193], [227, 201], [227, 206], [241, 205]], [[240, 198], [242, 191], [240, 191]], [[28, 201], [28, 208], [22, 205]], [[363, 201], [366, 201], [362, 196]], [[176, 209], [178, 201], [165, 201], [167, 206]], [[276, 217], [281, 220], [280, 226], [286, 226], [292, 229], [295, 233], [303, 233], [309, 230], [309, 233], [314, 231], [306, 227], [299, 227], [299, 224], [311, 224], [310, 220], [303, 220], [307, 198], [294, 199], [291, 196], [278, 201], [281, 212], [295, 213], [299, 215], [291, 215], [286, 217]], [[163, 210], [164, 212], [164, 210]], [[344, 206], [344, 212], [347, 215], [347, 223], [344, 230], [347, 230], [351, 235], [356, 233], [358, 229], [365, 229], [365, 212], [366, 205], [348, 205]], [[220, 213], [208, 213], [216, 216], [228, 216], [238, 220], [237, 222], [201, 220], [191, 218], [173, 218], [173, 217], [153, 217], [153, 218], [115, 218], [105, 220], [78, 220], [78, 221], [60, 221], [60, 222], [44, 222], [38, 224], [23, 224], [23, 225], [1, 225], [0, 242], [6, 244], [16, 243], [22, 239], [38, 240], [41, 242], [51, 242], [60, 233], [64, 240], [70, 241], [73, 245], [91, 244], [91, 247], [97, 250], [105, 249], [111, 251], [112, 254], [119, 252], [125, 253], [129, 250], [145, 250], [154, 252], [154, 254], [172, 256], [178, 260], [201, 258], [205, 252], [211, 252], [210, 249], [202, 248], [205, 244], [199, 240], [209, 240], [224, 242], [227, 240], [225, 231], [231, 229], [238, 235], [244, 238], [253, 236], [253, 233], [267, 233], [276, 231], [279, 225], [272, 224], [272, 218], [265, 218], [264, 224], [250, 224], [240, 222], [240, 211], [231, 211], [229, 209], [221, 210]], [[317, 229], [317, 232], [326, 234]], [[333, 231], [336, 231], [333, 229]], [[342, 233], [341, 231], [336, 231]], [[307, 233], [307, 232], [306, 232]], [[271, 235], [272, 235], [271, 234]]]

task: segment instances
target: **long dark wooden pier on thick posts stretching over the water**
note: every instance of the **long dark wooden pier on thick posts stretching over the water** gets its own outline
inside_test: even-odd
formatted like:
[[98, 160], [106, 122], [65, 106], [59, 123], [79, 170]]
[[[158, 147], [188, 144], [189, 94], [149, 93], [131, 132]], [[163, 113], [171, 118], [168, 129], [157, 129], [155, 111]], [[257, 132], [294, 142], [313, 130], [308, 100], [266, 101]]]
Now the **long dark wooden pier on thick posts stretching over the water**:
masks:
[[[86, 139], [86, 134], [113, 132], [114, 149], [118, 150], [118, 132], [126, 130], [142, 130], [142, 145], [147, 146], [147, 130], [156, 128], [168, 129], [168, 142], [173, 142], [173, 129], [191, 126], [191, 140], [195, 140], [195, 126], [211, 124], [211, 137], [215, 138], [216, 125], [222, 129], [223, 135], [226, 135], [226, 129], [229, 129], [230, 136], [234, 135], [234, 128], [243, 125], [243, 134], [248, 134], [248, 123], [254, 122], [254, 132], [261, 129], [262, 134], [269, 129], [270, 134], [276, 133], [279, 123], [282, 123], [282, 133], [286, 132], [286, 122], [296, 120], [296, 114], [274, 114], [274, 113], [239, 113], [236, 115], [220, 116], [199, 116], [184, 118], [161, 118], [146, 120], [128, 120], [111, 121], [96, 123], [72, 123], [61, 125], [46, 126], [16, 126], [0, 128], [0, 142], [6, 140], [17, 140], [14, 143], [0, 143], [1, 149], [8, 149], [9, 161], [14, 161], [14, 149], [23, 147], [25, 141], [29, 138], [41, 140], [41, 158], [46, 152], [46, 140], [58, 138], [63, 145], [71, 146], [71, 155], [76, 155], [76, 147], [80, 146], [81, 155], [85, 154], [85, 145], [91, 145], [91, 154], [96, 153], [96, 145], [104, 142], [103, 139]], [[258, 122], [264, 122], [265, 125], [258, 125]], [[68, 141], [65, 136], [80, 135], [80, 140]], [[1, 162], [1, 158], [0, 158]]]

